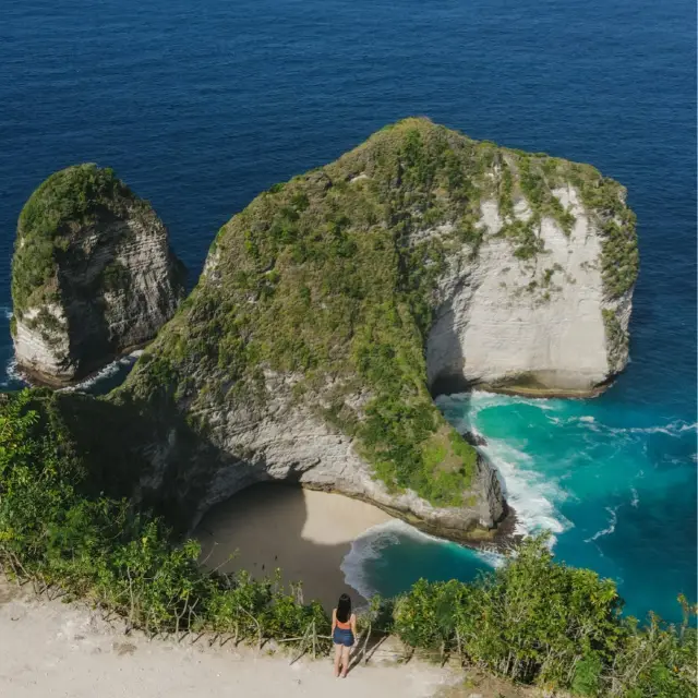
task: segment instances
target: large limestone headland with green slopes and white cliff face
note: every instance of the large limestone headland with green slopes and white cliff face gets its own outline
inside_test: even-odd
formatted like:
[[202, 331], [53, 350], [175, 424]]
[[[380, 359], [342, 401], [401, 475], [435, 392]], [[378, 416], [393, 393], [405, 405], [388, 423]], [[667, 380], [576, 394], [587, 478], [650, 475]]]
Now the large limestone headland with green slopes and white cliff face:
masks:
[[623, 368], [624, 195], [424, 119], [260, 195], [111, 398], [158, 422], [141, 496], [192, 525], [253, 482], [296, 481], [482, 537], [506, 510], [496, 474], [431, 393], [591, 392]]

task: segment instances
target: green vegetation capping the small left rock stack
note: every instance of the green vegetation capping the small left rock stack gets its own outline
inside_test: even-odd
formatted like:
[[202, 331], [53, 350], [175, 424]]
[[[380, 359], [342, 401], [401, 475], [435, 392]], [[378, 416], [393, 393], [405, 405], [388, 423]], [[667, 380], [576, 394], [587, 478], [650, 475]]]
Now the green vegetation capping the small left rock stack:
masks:
[[21, 317], [28, 308], [58, 297], [57, 258], [75, 242], [83, 226], [135, 205], [148, 207], [113, 170], [93, 164], [68, 167], [43, 182], [17, 222], [12, 260], [14, 312]]

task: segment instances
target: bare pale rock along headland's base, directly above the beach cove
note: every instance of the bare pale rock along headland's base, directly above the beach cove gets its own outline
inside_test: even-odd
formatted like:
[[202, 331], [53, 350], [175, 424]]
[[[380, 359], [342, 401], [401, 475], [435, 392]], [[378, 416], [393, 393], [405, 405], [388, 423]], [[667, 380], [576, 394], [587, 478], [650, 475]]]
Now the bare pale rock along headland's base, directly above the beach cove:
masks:
[[166, 446], [149, 454], [154, 468], [141, 482], [141, 490], [173, 502], [192, 530], [213, 505], [265, 481], [339, 492], [375, 504], [423, 530], [459, 540], [468, 540], [476, 528], [493, 528], [505, 514], [497, 476], [484, 459], [478, 462], [469, 505], [434, 507], [409, 490], [388, 492], [357, 454], [353, 440], [330, 431], [308, 409], [293, 405], [292, 380], [269, 372], [265, 377], [273, 398], [262, 413], [244, 408], [207, 411], [215, 452], [190, 455], [172, 430]]

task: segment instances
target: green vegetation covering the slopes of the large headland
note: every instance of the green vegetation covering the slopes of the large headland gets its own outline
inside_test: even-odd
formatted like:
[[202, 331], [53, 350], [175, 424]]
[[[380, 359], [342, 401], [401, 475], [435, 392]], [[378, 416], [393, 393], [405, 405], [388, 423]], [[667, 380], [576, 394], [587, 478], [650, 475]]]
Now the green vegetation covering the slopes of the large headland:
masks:
[[[542, 253], [535, 227], [544, 216], [564, 230], [574, 222], [552, 194], [570, 180], [589, 201], [617, 200], [625, 210], [622, 188], [593, 168], [479, 143], [425, 119], [387, 127], [261, 194], [221, 228], [208, 274], [125, 389], [147, 396], [167, 386], [205, 428], [213, 406], [263, 409], [264, 370], [293, 376], [294, 398], [353, 437], [389, 488], [462, 504], [476, 452], [446, 424], [426, 383], [436, 279], [464, 243], [477, 256], [484, 200], [509, 216], [501, 234], [516, 256]], [[521, 197], [533, 212], [527, 224], [510, 218]], [[605, 212], [590, 214], [601, 221]]]

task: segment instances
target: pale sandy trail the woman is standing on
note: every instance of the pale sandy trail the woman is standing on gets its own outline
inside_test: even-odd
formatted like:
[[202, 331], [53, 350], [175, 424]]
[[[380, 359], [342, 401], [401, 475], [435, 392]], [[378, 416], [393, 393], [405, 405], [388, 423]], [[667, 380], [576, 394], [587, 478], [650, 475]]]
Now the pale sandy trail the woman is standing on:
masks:
[[328, 659], [291, 666], [285, 655], [209, 648], [205, 639], [127, 637], [82, 604], [21, 598], [0, 582], [2, 698], [411, 698], [454, 681], [450, 670], [419, 662], [361, 665], [336, 679]]

